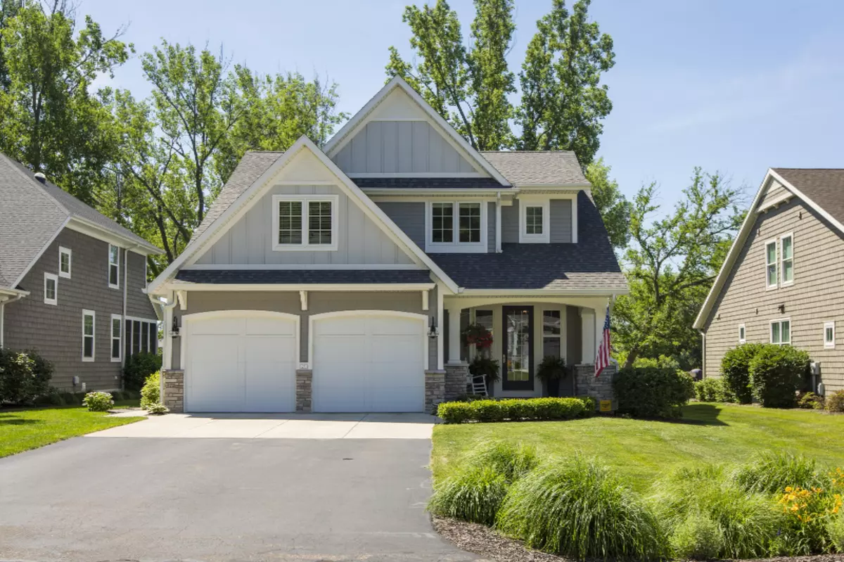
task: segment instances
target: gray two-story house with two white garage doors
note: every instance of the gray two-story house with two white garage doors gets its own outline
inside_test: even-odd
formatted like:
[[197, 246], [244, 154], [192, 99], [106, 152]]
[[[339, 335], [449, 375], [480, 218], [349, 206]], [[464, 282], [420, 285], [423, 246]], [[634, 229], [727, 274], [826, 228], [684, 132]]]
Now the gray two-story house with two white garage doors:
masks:
[[393, 79], [323, 149], [246, 154], [150, 284], [165, 404], [423, 411], [466, 392], [470, 322], [495, 394], [539, 396], [544, 355], [591, 365], [627, 291], [589, 188], [571, 152], [479, 153]]

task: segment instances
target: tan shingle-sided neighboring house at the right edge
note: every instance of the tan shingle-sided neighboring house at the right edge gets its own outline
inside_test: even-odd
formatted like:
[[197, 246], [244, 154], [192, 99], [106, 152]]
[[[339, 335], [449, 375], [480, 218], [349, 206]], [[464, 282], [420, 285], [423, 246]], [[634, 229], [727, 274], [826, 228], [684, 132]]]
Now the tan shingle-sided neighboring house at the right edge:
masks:
[[844, 170], [768, 170], [695, 321], [705, 376], [739, 343], [791, 343], [820, 365], [814, 390], [844, 389], [842, 295]]

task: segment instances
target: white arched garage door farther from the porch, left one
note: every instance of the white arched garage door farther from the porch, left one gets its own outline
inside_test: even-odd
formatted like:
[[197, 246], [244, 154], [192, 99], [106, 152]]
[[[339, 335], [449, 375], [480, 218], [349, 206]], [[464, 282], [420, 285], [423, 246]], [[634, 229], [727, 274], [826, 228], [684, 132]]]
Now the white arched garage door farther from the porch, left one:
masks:
[[186, 411], [295, 410], [295, 318], [263, 311], [185, 318]]

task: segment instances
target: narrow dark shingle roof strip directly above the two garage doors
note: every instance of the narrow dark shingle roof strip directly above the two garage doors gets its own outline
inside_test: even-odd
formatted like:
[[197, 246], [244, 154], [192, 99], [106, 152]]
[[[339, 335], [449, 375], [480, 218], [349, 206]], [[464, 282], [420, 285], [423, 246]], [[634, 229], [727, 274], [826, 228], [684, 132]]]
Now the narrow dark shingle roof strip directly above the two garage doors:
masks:
[[430, 283], [427, 269], [182, 269], [176, 279], [210, 284]]

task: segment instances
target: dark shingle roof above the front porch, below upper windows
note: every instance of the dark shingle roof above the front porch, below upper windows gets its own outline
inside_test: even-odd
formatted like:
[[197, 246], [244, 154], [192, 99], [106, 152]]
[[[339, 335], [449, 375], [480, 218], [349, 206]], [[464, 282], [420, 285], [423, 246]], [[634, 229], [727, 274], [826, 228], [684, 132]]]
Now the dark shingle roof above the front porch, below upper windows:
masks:
[[502, 244], [501, 253], [429, 256], [467, 289], [625, 289], [624, 273], [592, 200], [577, 196], [576, 244]]

